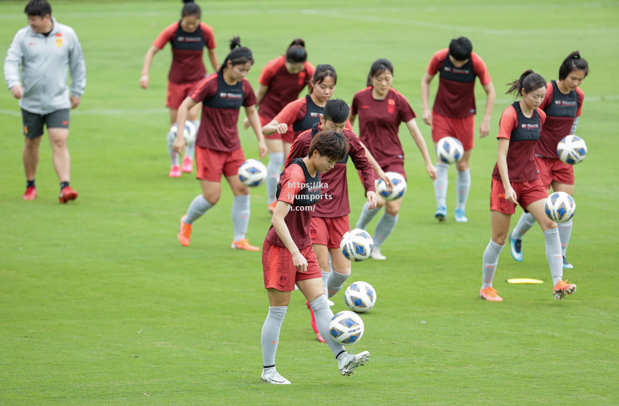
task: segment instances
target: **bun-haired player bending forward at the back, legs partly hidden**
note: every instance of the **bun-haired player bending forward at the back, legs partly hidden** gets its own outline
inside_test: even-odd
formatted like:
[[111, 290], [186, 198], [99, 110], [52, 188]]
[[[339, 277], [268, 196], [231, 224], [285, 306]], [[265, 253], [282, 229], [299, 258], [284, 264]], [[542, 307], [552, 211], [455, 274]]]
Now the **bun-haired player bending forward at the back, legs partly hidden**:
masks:
[[[258, 77], [258, 91], [256, 91], [261, 126], [269, 124], [288, 103], [297, 100], [301, 90], [309, 84], [309, 79], [314, 75], [314, 66], [307, 59], [305, 41], [297, 38], [288, 46], [285, 56], [279, 56], [264, 66]], [[249, 127], [247, 118], [243, 124], [245, 129]], [[284, 165], [284, 141], [282, 134], [274, 132], [266, 137], [265, 142], [269, 150], [267, 205], [269, 211], [273, 212], [277, 179]]]

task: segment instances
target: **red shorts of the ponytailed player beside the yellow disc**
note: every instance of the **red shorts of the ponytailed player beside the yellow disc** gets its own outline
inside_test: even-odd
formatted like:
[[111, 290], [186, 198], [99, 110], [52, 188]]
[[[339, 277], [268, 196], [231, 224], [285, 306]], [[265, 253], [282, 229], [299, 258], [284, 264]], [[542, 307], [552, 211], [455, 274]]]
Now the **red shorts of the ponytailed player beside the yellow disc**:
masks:
[[[543, 187], [540, 178], [530, 182], [511, 182], [511, 187], [514, 188], [518, 204], [525, 213], [528, 213], [527, 206], [529, 204], [548, 197], [548, 192]], [[503, 182], [495, 178], [492, 178], [490, 186], [490, 210], [496, 210], [503, 214], [514, 214], [516, 212], [516, 204], [505, 199]]]

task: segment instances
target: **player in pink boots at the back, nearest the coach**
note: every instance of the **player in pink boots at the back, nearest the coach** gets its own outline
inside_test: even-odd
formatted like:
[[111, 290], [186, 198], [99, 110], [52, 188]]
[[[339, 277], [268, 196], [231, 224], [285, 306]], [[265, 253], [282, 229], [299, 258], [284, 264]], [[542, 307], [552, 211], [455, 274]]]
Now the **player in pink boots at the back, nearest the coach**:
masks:
[[[140, 78], [140, 86], [147, 89], [149, 86], [149, 69], [153, 57], [169, 42], [172, 47], [172, 66], [168, 74], [168, 98], [165, 101], [165, 106], [170, 108], [170, 125], [176, 123], [176, 114], [182, 101], [188, 97], [191, 90], [206, 75], [206, 68], [202, 62], [202, 50], [205, 46], [209, 49], [209, 58], [213, 69], [215, 71], [219, 69], [213, 28], [200, 21], [202, 12], [193, 0], [183, 0], [183, 2], [185, 5], [181, 11], [181, 20], [168, 25], [146, 52], [142, 77]], [[189, 111], [189, 121], [196, 126], [196, 129], [200, 126], [198, 117], [200, 108], [200, 103], [198, 103]], [[183, 133], [183, 131], [180, 132]], [[168, 131], [169, 176], [179, 178], [181, 170], [186, 173], [193, 171], [195, 143], [186, 146], [183, 166], [181, 167], [179, 156], [172, 149], [173, 142], [174, 138]]]

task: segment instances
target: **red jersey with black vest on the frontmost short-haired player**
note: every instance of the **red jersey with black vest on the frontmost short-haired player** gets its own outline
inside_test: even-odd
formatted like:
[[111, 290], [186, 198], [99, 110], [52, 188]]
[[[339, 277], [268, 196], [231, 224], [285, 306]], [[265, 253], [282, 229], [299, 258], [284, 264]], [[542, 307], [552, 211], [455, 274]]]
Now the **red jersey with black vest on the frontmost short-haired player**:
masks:
[[[292, 207], [284, 218], [284, 222], [290, 231], [292, 241], [298, 249], [311, 245], [309, 238], [309, 223], [316, 202], [320, 199], [321, 177], [316, 171], [314, 177], [309, 175], [308, 168], [302, 159], [295, 159], [291, 165], [284, 169], [277, 185], [277, 201], [288, 202]], [[279, 238], [275, 227], [271, 226], [264, 238], [271, 244], [286, 247]]]

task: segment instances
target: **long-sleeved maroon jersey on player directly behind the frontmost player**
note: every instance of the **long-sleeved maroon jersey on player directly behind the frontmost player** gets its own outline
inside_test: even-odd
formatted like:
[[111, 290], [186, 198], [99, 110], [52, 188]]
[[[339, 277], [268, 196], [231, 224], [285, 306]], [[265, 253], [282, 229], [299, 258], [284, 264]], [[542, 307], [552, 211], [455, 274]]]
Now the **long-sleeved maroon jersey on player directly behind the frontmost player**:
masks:
[[[287, 168], [295, 158], [303, 158], [308, 155], [309, 144], [318, 132], [321, 131], [320, 123], [314, 124], [308, 131], [303, 131], [292, 147], [284, 168]], [[361, 145], [357, 135], [349, 129], [344, 129], [344, 136], [350, 141], [350, 150], [346, 156], [335, 162], [335, 166], [322, 174], [322, 198], [316, 204], [314, 217], [342, 217], [350, 214], [350, 202], [348, 202], [348, 181], [346, 178], [346, 163], [348, 157], [355, 164], [355, 168], [363, 175], [363, 188], [365, 192], [376, 191], [374, 188], [374, 170], [368, 158], [365, 156], [365, 149]]]

